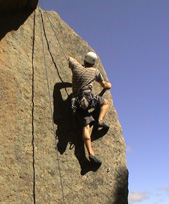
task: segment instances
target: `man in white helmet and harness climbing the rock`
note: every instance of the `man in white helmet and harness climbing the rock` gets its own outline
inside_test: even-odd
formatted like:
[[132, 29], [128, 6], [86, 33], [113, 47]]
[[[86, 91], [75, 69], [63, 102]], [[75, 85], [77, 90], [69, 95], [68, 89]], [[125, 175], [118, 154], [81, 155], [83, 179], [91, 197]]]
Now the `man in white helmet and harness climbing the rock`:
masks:
[[[94, 52], [88, 52], [84, 58], [84, 65], [81, 65], [73, 57], [69, 57], [69, 67], [72, 71], [72, 109], [76, 112], [78, 120], [81, 123], [82, 138], [89, 153], [89, 160], [94, 164], [101, 165], [101, 161], [95, 156], [92, 149], [90, 126], [93, 123], [102, 128], [109, 128], [103, 119], [109, 108], [107, 99], [92, 92], [93, 81], [97, 81], [104, 89], [110, 89], [111, 83], [104, 81], [100, 71], [94, 68], [97, 61], [97, 55]], [[91, 108], [100, 108], [98, 121], [95, 121], [92, 114], [88, 111]]]

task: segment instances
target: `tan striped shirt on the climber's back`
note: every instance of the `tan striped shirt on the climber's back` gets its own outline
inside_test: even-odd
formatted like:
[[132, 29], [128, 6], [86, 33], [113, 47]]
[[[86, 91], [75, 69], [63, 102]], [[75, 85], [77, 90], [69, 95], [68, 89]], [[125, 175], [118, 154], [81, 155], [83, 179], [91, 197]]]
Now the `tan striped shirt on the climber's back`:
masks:
[[81, 89], [90, 87], [92, 89], [92, 82], [102, 82], [103, 77], [100, 71], [93, 67], [83, 67], [74, 58], [69, 58], [69, 67], [72, 70], [72, 86], [73, 93], [79, 92]]

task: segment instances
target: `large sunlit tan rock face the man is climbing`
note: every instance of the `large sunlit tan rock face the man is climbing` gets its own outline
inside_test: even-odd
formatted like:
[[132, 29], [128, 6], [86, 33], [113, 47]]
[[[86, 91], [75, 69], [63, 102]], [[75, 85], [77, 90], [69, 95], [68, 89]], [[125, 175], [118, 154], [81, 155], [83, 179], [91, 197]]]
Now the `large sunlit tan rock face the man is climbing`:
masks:
[[[44, 11], [0, 18], [0, 203], [127, 204], [125, 141], [110, 91], [110, 129], [92, 134], [103, 161], [97, 169], [70, 111], [71, 71], [62, 51], [83, 63], [92, 49], [57, 13], [48, 16], [59, 43]], [[107, 80], [100, 60], [96, 67]]]

